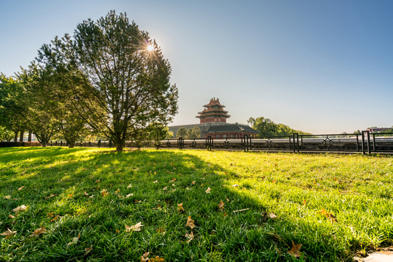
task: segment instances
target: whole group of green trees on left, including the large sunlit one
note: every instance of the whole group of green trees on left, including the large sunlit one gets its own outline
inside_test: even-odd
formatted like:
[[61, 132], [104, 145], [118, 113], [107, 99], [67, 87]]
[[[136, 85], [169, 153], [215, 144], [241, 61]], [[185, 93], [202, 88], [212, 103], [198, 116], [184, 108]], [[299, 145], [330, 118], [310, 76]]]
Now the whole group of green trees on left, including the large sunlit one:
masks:
[[88, 134], [111, 140], [155, 139], [177, 113], [171, 67], [148, 32], [110, 11], [43, 44], [14, 77], [0, 74], [0, 136], [30, 131], [45, 146], [61, 137], [70, 147]]

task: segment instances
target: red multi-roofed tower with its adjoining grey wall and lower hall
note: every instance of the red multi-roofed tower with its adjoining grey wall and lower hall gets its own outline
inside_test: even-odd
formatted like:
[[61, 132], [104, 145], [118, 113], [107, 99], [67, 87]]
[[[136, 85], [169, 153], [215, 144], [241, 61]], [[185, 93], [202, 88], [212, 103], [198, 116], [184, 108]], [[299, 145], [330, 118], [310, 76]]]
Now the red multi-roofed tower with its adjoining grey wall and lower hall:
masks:
[[200, 119], [199, 124], [170, 126], [169, 131], [172, 131], [174, 136], [176, 136], [177, 131], [181, 127], [188, 130], [198, 126], [201, 129], [201, 137], [211, 136], [214, 138], [240, 138], [244, 137], [244, 135], [255, 136], [259, 133], [248, 125], [227, 123], [227, 119], [231, 116], [228, 115], [228, 111], [224, 110], [225, 106], [220, 103], [218, 98], [210, 99], [210, 102], [205, 104], [204, 108], [196, 116], [196, 118]]

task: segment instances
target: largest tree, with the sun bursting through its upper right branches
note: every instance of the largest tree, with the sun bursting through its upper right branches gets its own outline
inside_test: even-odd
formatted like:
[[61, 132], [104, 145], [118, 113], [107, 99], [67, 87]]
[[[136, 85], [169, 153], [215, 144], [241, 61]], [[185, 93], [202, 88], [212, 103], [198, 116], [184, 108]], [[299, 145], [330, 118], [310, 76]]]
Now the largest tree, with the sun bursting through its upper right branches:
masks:
[[154, 122], [166, 124], [177, 113], [178, 91], [169, 82], [169, 62], [126, 14], [111, 11], [97, 21], [83, 21], [72, 37], [66, 34], [44, 45], [40, 56], [81, 74], [84, 82], [63, 87], [74, 92], [69, 94], [71, 110], [113, 141], [117, 151], [138, 130]]

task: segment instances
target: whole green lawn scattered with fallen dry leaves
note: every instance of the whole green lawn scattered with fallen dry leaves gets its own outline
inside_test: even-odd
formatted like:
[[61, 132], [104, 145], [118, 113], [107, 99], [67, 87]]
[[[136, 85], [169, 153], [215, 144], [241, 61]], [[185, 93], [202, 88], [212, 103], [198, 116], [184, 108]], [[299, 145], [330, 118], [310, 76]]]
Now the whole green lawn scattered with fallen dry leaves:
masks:
[[146, 252], [149, 261], [351, 261], [393, 244], [392, 164], [373, 155], [0, 148], [0, 261], [141, 261]]

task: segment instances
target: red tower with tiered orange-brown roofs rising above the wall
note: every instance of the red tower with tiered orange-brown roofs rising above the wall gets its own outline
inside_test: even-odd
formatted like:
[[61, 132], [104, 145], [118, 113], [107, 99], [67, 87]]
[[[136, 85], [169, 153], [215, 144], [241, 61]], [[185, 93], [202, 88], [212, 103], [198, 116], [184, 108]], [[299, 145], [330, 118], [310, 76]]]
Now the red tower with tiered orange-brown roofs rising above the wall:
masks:
[[205, 104], [204, 106], [204, 111], [199, 112], [199, 116], [196, 116], [196, 118], [200, 119], [200, 124], [203, 123], [226, 123], [227, 118], [230, 118], [231, 116], [228, 115], [228, 111], [225, 111], [223, 106], [220, 103], [220, 100], [217, 98], [212, 98], [210, 99], [210, 102], [208, 104]]

